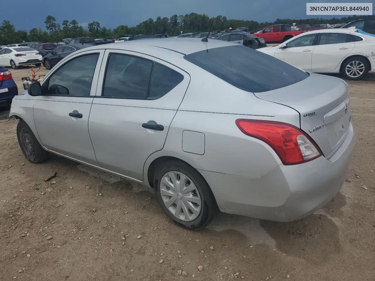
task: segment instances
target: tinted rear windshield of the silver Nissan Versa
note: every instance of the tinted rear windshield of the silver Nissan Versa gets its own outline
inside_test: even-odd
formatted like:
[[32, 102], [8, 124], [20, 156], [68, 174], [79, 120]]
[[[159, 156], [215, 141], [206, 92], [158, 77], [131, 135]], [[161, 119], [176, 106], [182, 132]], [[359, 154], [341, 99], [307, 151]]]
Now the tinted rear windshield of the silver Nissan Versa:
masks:
[[242, 45], [207, 49], [184, 58], [234, 87], [252, 93], [286, 87], [309, 76], [284, 61]]

